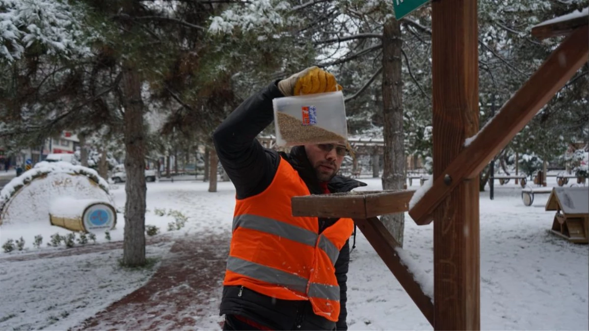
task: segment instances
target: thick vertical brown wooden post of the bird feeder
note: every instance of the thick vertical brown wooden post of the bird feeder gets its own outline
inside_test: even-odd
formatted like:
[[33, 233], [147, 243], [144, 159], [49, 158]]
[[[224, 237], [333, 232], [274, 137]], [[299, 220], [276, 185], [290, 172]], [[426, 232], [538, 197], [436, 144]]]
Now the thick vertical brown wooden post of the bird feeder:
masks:
[[[477, 1], [432, 2], [434, 178], [478, 132], [477, 47]], [[433, 214], [436, 331], [480, 329], [478, 180], [458, 184]]]

